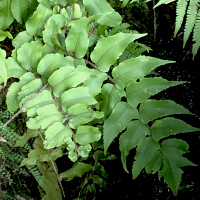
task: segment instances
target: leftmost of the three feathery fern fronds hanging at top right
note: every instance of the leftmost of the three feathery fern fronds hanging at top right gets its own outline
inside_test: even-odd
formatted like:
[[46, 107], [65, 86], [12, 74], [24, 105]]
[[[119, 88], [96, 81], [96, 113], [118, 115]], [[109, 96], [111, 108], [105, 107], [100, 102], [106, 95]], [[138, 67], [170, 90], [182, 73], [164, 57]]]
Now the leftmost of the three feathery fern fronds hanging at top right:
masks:
[[183, 18], [185, 16], [185, 11], [187, 8], [188, 0], [178, 0], [176, 4], [176, 25], [174, 31], [174, 37], [176, 37], [181, 25], [183, 23]]

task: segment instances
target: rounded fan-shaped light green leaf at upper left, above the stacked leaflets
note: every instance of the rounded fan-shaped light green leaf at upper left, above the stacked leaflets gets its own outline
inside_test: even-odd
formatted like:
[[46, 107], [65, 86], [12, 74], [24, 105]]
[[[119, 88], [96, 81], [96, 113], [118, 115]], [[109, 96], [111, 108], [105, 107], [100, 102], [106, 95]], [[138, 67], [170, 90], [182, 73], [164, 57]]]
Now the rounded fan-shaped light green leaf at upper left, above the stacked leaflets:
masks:
[[41, 48], [42, 43], [39, 41], [32, 41], [25, 43], [17, 50], [17, 60], [26, 70], [30, 68], [36, 72], [37, 65], [42, 58]]

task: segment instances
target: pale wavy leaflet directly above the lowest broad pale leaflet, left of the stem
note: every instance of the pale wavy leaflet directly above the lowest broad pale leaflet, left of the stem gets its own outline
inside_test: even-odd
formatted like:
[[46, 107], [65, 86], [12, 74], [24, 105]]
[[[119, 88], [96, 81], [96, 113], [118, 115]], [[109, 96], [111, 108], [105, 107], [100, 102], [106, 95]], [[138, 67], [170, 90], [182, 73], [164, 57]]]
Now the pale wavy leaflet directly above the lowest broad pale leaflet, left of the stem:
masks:
[[27, 121], [27, 127], [30, 129], [46, 129], [55, 122], [64, 123], [63, 115], [58, 112], [54, 104], [46, 105], [39, 108], [37, 111], [38, 116], [30, 118]]

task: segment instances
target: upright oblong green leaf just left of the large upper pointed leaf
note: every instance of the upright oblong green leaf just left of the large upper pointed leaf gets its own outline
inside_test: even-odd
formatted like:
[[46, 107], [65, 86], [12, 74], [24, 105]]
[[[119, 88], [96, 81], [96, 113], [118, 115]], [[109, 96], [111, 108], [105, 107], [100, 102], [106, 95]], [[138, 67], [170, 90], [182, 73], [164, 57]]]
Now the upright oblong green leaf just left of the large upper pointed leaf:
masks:
[[65, 40], [67, 51], [74, 52], [77, 58], [85, 56], [89, 45], [90, 19], [82, 17], [71, 24], [71, 28]]

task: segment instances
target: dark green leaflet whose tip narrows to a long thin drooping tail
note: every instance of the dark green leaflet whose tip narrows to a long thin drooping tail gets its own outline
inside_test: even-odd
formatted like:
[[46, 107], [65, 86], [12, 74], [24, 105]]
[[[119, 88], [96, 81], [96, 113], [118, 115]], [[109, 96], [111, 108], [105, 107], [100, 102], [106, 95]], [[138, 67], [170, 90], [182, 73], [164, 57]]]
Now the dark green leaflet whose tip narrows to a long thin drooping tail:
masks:
[[150, 135], [147, 126], [139, 120], [134, 120], [129, 123], [127, 130], [120, 136], [119, 147], [121, 151], [121, 160], [127, 173], [126, 157], [128, 156], [129, 151], [135, 148], [147, 135]]

